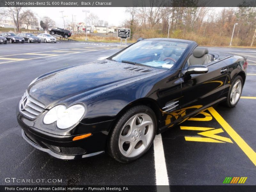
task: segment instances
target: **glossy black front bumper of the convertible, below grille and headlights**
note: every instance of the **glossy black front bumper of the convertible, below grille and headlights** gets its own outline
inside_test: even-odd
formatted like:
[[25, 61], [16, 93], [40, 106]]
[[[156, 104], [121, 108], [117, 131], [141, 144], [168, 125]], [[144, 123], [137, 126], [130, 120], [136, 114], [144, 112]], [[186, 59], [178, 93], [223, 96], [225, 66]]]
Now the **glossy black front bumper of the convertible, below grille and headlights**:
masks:
[[[31, 126], [36, 123], [24, 117], [18, 108], [16, 115], [22, 128], [22, 137], [33, 147], [59, 159], [81, 159], [104, 153], [108, 136], [108, 131], [104, 131], [104, 128], [112, 123], [109, 121], [90, 125], [80, 123], [74, 129], [86, 130], [84, 133], [80, 131], [79, 134], [56, 135]], [[93, 132], [92, 129], [95, 130], [95, 127], [102, 128], [102, 131]], [[92, 135], [73, 141], [75, 136], [85, 133]]]

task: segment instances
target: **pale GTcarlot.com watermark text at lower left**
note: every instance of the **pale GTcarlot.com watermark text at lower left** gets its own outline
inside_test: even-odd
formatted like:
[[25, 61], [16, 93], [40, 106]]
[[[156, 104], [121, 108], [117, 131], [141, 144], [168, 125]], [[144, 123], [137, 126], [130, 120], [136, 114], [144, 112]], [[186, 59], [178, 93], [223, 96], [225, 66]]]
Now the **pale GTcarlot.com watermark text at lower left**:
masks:
[[62, 179], [22, 179], [16, 177], [6, 177], [5, 183], [62, 183]]

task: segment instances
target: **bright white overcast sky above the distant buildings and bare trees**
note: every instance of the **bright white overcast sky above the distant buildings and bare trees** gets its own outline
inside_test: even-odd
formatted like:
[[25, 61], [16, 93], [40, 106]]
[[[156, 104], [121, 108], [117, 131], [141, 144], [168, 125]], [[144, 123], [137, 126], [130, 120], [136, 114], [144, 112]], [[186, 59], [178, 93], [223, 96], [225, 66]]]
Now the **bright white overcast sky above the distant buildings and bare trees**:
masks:
[[[52, 18], [56, 22], [56, 26], [63, 27], [63, 19], [60, 11], [64, 11], [63, 15], [67, 16], [70, 22], [72, 22], [72, 14], [76, 23], [85, 21], [85, 12], [82, 10], [90, 10], [90, 13], [97, 14], [100, 20], [108, 21], [109, 26], [119, 26], [123, 21], [129, 17], [125, 13], [125, 7], [29, 7], [31, 11], [38, 15], [38, 19], [44, 16]], [[90, 13], [87, 13], [87, 17]], [[128, 19], [128, 18], [127, 18]]]

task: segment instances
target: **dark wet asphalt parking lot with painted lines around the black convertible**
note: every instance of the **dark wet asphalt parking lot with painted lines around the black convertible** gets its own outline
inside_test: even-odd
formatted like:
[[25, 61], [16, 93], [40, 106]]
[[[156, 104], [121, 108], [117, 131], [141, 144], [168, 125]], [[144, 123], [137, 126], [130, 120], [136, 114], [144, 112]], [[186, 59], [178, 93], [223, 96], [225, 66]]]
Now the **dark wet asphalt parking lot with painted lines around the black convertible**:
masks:
[[232, 109], [208, 108], [158, 135], [154, 147], [133, 163], [120, 164], [106, 154], [59, 160], [23, 140], [15, 109], [28, 84], [46, 72], [106, 58], [121, 50], [117, 45], [0, 44], [0, 185], [28, 185], [6, 183], [7, 177], [62, 180], [55, 185], [222, 185], [226, 177], [246, 177], [243, 185], [256, 185], [256, 49], [208, 47], [247, 57], [240, 101]]

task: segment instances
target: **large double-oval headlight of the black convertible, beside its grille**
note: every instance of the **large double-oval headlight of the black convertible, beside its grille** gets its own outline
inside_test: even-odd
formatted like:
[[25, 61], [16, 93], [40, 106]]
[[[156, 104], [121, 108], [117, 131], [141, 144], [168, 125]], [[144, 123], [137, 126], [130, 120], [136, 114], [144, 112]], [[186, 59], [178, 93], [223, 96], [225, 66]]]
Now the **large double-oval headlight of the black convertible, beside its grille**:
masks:
[[44, 116], [44, 124], [57, 122], [57, 127], [67, 129], [76, 124], [84, 116], [85, 108], [81, 104], [66, 108], [65, 105], [57, 105], [51, 108]]

